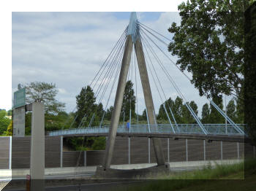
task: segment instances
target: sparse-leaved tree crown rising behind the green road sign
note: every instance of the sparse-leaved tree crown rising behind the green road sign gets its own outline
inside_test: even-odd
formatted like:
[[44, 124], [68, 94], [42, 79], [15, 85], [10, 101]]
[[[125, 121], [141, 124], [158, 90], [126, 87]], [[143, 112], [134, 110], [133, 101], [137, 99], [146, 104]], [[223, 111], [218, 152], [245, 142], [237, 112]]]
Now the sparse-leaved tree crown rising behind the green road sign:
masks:
[[45, 112], [58, 114], [64, 110], [65, 104], [56, 100], [59, 92], [56, 85], [47, 82], [31, 82], [26, 85], [26, 103], [43, 102]]

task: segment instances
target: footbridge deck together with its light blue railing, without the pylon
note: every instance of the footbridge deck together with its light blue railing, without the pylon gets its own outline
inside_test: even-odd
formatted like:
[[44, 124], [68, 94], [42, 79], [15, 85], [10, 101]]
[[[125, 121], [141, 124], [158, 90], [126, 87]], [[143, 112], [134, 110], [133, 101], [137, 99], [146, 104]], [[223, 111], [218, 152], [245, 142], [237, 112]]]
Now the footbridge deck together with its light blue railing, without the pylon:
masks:
[[[237, 124], [244, 131], [243, 124]], [[118, 125], [117, 136], [159, 137], [174, 139], [206, 139], [209, 141], [244, 142], [244, 133], [239, 132], [230, 124], [204, 124], [205, 134], [197, 124], [157, 125]], [[48, 132], [49, 136], [108, 136], [110, 126], [86, 127], [55, 130]], [[174, 130], [174, 131], [173, 131]]]

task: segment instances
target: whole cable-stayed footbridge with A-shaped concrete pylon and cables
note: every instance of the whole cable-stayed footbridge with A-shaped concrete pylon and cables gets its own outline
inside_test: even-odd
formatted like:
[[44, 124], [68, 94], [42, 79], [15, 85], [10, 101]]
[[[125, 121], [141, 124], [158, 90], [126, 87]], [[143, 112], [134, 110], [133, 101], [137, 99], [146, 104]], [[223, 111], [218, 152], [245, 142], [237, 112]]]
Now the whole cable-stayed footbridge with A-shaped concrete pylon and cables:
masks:
[[[132, 12], [129, 25], [121, 34], [108, 58], [97, 71], [90, 85], [82, 89], [83, 94], [78, 95], [78, 112], [75, 112], [74, 120], [69, 129], [49, 132], [49, 136], [108, 136], [105, 157], [102, 166], [97, 168], [97, 174], [102, 176], [116, 174], [118, 177], [124, 174], [110, 168], [116, 136], [144, 136], [152, 138], [153, 141], [157, 166], [154, 169], [144, 169], [140, 172], [130, 171], [127, 176], [130, 176], [130, 173], [138, 175], [151, 170], [165, 171], [167, 169], [161, 139], [159, 138], [244, 141], [244, 137], [246, 137], [244, 125], [233, 122], [232, 117], [227, 116], [227, 109], [225, 108], [225, 111], [223, 111], [222, 104], [218, 103], [219, 101], [214, 101], [214, 96], [206, 96], [209, 106], [211, 106], [211, 112], [215, 111], [217, 115], [224, 117], [225, 124], [203, 124], [201, 122], [195, 105], [193, 106], [192, 102], [189, 103], [180, 85], [176, 83], [177, 78], [174, 76], [175, 71], [173, 69], [178, 69], [178, 72], [181, 71], [181, 74], [189, 82], [193, 82], [193, 79], [189, 77], [184, 68], [178, 66], [177, 62], [170, 58], [170, 52], [166, 52], [171, 42], [173, 42], [173, 39], [140, 23], [136, 13]], [[203, 63], [198, 63], [198, 66], [200, 64]], [[175, 66], [175, 68], [171, 69], [170, 66]], [[203, 79], [203, 74], [201, 77]], [[139, 80], [142, 88], [138, 88]], [[131, 86], [135, 84], [135, 91], [127, 90], [125, 94], [127, 82]], [[152, 87], [155, 88], [151, 90]], [[90, 93], [91, 89], [95, 94]], [[138, 125], [139, 90], [143, 92], [146, 125]], [[181, 98], [181, 104], [184, 103], [184, 110], [186, 109], [188, 113], [184, 116], [192, 118], [195, 124], [178, 124], [178, 118], [182, 114], [178, 112], [174, 102], [168, 99], [168, 94], [172, 93], [173, 90]], [[154, 92], [153, 95], [152, 92]], [[87, 96], [87, 93], [93, 96]], [[116, 93], [114, 100], [111, 99], [112, 93]], [[162, 114], [166, 115], [165, 120], [167, 119], [169, 124], [157, 124], [157, 114], [153, 101], [153, 97], [156, 100], [156, 96], [157, 100], [162, 103]], [[104, 109], [99, 111], [101, 109], [98, 109], [97, 106], [89, 104], [93, 100], [96, 101], [97, 106], [102, 105]], [[110, 114], [110, 126], [106, 126], [104, 125], [104, 119], [112, 100], [113, 110]], [[137, 122], [132, 124], [132, 118], [135, 118], [135, 116], [137, 116]], [[129, 120], [127, 120], [128, 118]], [[91, 127], [95, 124], [96, 119], [99, 119], [99, 127]], [[123, 122], [121, 122], [121, 119], [123, 119]], [[189, 121], [192, 122], [192, 120]], [[125, 122], [127, 122], [126, 125], [120, 125], [125, 124]], [[217, 120], [214, 122], [217, 122]], [[88, 127], [85, 127], [85, 124], [89, 124]], [[72, 125], [75, 125], [75, 128]]]

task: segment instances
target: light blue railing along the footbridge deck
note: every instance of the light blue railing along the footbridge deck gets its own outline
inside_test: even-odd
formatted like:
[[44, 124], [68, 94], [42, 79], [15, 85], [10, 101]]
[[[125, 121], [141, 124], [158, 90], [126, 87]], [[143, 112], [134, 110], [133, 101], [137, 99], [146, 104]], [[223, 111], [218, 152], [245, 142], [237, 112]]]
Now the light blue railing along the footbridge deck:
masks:
[[[241, 130], [244, 130], [244, 124], [237, 124]], [[207, 134], [211, 135], [236, 135], [244, 136], [244, 133], [238, 132], [233, 125], [230, 124], [204, 124], [203, 125]], [[48, 132], [49, 136], [63, 136], [63, 135], [75, 135], [75, 134], [90, 134], [90, 133], [108, 133], [110, 126], [96, 126], [96, 127], [84, 127], [84, 128], [73, 128], [64, 130], [54, 130]], [[197, 124], [173, 124], [173, 129], [170, 124], [157, 124], [157, 125], [118, 125], [118, 133], [184, 133], [184, 134], [204, 134], [202, 129]]]

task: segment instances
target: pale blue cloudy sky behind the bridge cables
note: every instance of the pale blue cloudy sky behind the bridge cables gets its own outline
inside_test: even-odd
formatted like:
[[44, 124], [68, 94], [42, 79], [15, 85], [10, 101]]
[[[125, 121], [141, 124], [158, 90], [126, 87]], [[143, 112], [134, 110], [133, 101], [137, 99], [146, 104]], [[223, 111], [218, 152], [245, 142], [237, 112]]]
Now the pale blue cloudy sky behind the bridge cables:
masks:
[[[104, 63], [114, 44], [129, 23], [130, 12], [12, 12], [12, 93], [18, 83], [53, 82], [59, 89], [58, 99], [66, 104], [67, 112], [75, 108], [75, 96], [82, 87], [89, 85]], [[172, 38], [167, 31], [171, 23], [180, 22], [178, 12], [138, 12], [140, 23]], [[159, 44], [159, 42], [157, 42]], [[176, 58], [159, 46], [175, 62]], [[156, 50], [157, 52], [157, 50]], [[206, 98], [200, 98], [198, 91], [188, 79], [157, 52], [187, 101], [194, 100], [200, 108]], [[176, 90], [167, 81], [157, 66], [167, 98], [176, 98]], [[189, 74], [191, 76], [191, 74]], [[155, 108], [158, 111], [161, 100], [153, 84], [151, 89]], [[110, 97], [113, 105], [115, 92]], [[108, 96], [103, 98], [105, 105]], [[141, 85], [138, 85], [138, 111], [145, 108]]]

